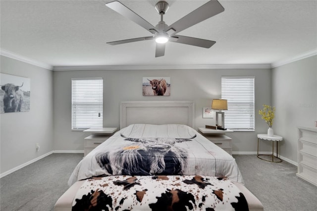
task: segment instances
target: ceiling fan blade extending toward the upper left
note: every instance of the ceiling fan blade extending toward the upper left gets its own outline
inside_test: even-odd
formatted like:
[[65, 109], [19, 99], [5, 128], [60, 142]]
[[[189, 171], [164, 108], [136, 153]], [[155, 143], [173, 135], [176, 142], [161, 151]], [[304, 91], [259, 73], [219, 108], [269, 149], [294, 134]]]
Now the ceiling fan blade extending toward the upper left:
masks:
[[119, 1], [111, 1], [109, 3], [106, 3], [106, 6], [113, 9], [117, 13], [123, 15], [126, 18], [129, 18], [130, 20], [134, 21], [135, 23], [139, 24], [152, 34], [155, 34], [157, 32], [157, 29], [148, 21], [144, 20], [142, 17], [140, 17], [137, 13], [120, 3]]

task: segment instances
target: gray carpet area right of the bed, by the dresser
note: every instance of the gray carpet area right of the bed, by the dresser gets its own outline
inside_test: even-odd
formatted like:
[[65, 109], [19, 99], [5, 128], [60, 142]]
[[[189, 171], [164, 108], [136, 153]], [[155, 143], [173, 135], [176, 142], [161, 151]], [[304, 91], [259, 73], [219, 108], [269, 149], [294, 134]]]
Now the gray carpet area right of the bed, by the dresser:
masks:
[[234, 155], [245, 186], [264, 211], [317, 211], [317, 188], [296, 176], [297, 166], [268, 162], [256, 155]]

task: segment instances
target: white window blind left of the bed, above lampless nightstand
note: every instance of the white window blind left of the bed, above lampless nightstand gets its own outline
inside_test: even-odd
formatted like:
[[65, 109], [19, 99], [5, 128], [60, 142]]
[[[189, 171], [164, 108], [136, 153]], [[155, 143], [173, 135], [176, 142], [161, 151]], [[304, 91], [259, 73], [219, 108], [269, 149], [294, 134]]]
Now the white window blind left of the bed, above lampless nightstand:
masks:
[[71, 128], [103, 127], [103, 79], [71, 80]]

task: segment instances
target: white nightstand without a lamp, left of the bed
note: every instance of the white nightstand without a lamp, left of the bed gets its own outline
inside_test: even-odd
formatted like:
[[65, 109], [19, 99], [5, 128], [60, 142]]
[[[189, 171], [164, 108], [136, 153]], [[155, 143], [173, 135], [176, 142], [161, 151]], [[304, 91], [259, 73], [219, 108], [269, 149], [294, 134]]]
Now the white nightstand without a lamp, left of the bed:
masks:
[[84, 130], [84, 133], [91, 134], [84, 139], [84, 156], [106, 141], [116, 130], [116, 127], [92, 127]]

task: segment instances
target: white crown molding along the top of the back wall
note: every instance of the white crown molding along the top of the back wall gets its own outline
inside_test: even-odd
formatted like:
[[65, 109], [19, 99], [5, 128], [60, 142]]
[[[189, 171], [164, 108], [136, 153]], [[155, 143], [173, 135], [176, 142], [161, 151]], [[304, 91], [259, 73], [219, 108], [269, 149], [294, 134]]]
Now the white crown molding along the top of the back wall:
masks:
[[163, 69], [270, 69], [270, 64], [209, 64], [209, 65], [104, 65], [54, 66], [54, 71], [72, 70], [163, 70]]

